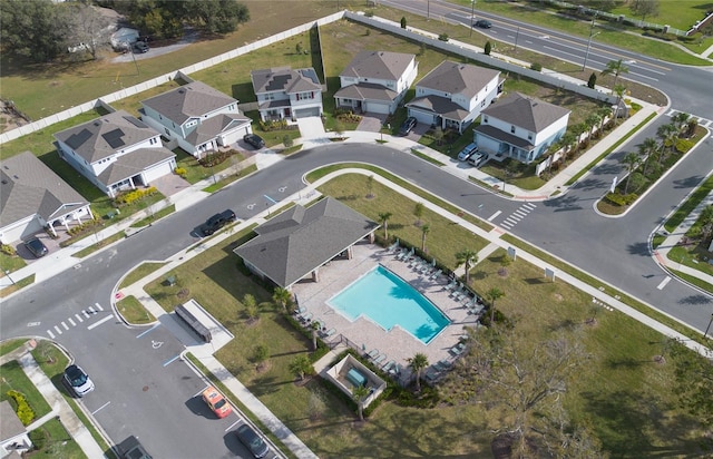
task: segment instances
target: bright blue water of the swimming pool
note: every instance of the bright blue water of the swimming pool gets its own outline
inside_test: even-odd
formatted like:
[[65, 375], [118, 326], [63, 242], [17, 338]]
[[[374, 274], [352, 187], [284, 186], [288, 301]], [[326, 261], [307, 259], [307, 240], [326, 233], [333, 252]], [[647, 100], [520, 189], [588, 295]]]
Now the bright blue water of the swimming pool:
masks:
[[352, 322], [365, 315], [388, 331], [399, 325], [426, 344], [450, 323], [428, 299], [383, 266], [332, 296], [329, 304]]

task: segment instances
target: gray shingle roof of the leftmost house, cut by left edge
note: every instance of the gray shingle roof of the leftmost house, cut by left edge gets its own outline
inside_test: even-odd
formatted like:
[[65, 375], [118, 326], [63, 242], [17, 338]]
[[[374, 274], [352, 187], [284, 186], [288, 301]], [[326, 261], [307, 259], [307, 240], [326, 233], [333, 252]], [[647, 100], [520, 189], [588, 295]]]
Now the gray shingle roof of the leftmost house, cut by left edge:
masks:
[[32, 215], [51, 221], [88, 204], [30, 152], [0, 163], [0, 222], [3, 226]]

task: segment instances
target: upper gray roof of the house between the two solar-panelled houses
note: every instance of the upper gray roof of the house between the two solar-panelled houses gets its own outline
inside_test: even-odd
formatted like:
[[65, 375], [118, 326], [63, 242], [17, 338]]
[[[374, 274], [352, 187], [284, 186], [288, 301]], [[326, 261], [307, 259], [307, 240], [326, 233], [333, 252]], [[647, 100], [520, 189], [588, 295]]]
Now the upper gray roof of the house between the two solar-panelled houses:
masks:
[[237, 104], [237, 99], [226, 96], [204, 82], [193, 81], [141, 100], [141, 104], [158, 111], [176, 125], [183, 125], [189, 118], [202, 117], [231, 104]]

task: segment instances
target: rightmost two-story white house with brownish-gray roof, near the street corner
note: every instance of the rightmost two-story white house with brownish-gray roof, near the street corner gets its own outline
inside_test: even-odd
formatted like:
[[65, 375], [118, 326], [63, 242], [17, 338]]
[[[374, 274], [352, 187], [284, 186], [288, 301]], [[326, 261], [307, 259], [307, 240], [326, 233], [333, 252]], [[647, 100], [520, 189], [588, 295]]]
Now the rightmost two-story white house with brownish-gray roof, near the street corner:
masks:
[[567, 130], [569, 110], [514, 92], [482, 110], [473, 141], [492, 159], [531, 163]]

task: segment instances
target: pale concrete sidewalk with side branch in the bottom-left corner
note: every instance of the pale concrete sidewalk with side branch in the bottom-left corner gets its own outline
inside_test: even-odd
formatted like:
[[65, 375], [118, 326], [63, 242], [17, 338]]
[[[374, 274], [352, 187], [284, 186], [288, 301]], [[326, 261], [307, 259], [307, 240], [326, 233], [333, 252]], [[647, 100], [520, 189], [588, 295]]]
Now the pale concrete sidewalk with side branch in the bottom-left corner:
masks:
[[18, 348], [0, 358], [0, 364], [17, 360], [27, 377], [32, 381], [32, 384], [35, 384], [42, 397], [45, 397], [47, 403], [52, 407], [52, 410], [49, 413], [32, 422], [27, 427], [27, 430], [35, 430], [50, 419], [57, 418], [61, 421], [67, 433], [75, 439], [77, 445], [79, 445], [79, 448], [81, 448], [88, 458], [104, 458], [105, 451], [101, 449], [99, 443], [97, 443], [94, 437], [91, 437], [91, 432], [89, 432], [77, 414], [75, 414], [71, 407], [69, 407], [69, 403], [57, 390], [55, 384], [52, 384], [52, 381], [50, 381], [47, 374], [45, 374], [40, 369], [40, 365], [30, 353], [30, 350], [32, 349], [31, 343], [32, 341], [28, 341], [21, 348]]

